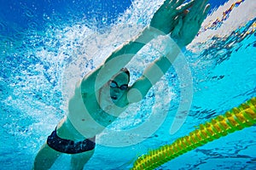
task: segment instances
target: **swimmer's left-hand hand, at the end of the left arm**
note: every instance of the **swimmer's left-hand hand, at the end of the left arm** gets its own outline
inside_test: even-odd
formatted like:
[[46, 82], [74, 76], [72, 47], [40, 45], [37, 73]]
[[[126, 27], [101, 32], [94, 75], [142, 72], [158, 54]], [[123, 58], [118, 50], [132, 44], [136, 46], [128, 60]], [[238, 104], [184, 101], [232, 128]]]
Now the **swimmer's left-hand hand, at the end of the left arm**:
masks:
[[194, 1], [191, 0], [189, 3], [183, 4], [184, 0], [166, 0], [154, 13], [150, 26], [169, 34], [177, 25], [177, 18], [183, 15], [183, 11], [190, 8]]

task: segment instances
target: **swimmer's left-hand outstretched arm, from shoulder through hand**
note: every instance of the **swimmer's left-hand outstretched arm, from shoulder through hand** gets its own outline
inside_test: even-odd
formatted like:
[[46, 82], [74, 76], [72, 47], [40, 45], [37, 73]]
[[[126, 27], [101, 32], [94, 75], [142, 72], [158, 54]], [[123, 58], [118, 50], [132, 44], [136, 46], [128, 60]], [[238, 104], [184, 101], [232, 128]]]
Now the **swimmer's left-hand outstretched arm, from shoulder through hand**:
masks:
[[146, 43], [154, 37], [170, 33], [177, 24], [175, 19], [178, 15], [193, 3], [192, 0], [182, 5], [183, 1], [180, 0], [177, 3], [177, 0], [166, 0], [154, 14], [150, 25], [141, 34], [116, 49], [102, 65], [83, 78], [81, 84], [83, 92], [93, 93], [101, 88], [113, 75], [125, 67]]

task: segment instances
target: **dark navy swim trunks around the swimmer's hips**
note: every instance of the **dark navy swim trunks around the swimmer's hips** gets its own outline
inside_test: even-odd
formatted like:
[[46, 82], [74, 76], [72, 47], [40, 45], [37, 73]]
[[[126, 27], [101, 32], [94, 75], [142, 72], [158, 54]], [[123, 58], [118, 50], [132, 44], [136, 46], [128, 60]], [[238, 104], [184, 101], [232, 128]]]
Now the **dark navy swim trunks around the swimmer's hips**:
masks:
[[61, 139], [57, 136], [56, 129], [52, 132], [48, 139], [47, 144], [54, 150], [67, 154], [78, 154], [84, 151], [93, 150], [95, 148], [95, 137], [92, 139], [84, 139], [80, 142], [74, 142], [69, 139]]

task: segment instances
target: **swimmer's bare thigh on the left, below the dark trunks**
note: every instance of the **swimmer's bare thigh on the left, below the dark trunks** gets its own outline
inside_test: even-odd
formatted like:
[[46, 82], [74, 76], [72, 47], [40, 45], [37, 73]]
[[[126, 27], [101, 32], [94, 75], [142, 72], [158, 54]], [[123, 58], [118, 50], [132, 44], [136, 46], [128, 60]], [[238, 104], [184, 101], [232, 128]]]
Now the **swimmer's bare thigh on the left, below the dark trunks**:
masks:
[[55, 160], [61, 156], [61, 152], [53, 150], [48, 144], [44, 144], [38, 151], [38, 155], [34, 161], [34, 170], [49, 169], [55, 162]]

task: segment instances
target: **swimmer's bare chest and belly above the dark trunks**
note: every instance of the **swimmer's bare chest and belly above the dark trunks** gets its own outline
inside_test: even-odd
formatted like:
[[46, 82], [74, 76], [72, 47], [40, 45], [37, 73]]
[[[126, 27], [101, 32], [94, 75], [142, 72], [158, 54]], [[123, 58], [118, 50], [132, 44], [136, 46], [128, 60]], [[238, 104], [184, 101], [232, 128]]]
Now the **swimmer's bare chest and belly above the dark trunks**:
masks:
[[61, 138], [82, 140], [92, 138], [111, 124], [126, 107], [113, 104], [108, 93], [101, 89], [92, 94], [81, 93], [80, 83], [68, 103], [68, 114], [58, 125]]

